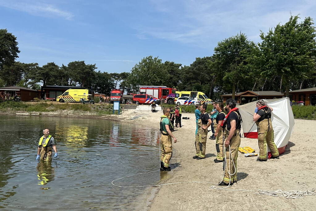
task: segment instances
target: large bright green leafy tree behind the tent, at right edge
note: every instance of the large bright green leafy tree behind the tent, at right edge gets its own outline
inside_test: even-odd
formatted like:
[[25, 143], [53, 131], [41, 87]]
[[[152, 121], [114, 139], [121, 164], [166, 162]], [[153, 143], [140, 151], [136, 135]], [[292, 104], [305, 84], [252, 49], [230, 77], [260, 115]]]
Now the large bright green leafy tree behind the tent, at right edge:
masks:
[[[267, 34], [261, 32], [259, 57], [263, 77], [280, 77], [280, 91], [285, 85], [289, 97], [291, 81], [307, 79], [315, 72], [315, 27], [307, 17], [298, 23], [298, 15], [290, 16], [284, 25], [276, 25]], [[293, 85], [293, 84], [292, 84]]]

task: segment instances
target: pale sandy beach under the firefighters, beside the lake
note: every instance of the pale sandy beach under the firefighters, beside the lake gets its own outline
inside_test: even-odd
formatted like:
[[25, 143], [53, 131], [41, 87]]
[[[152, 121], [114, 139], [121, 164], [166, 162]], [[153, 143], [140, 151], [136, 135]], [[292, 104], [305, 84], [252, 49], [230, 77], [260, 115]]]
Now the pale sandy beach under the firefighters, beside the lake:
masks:
[[[161, 111], [128, 110], [117, 120], [147, 125], [159, 129]], [[222, 163], [214, 163], [216, 157], [215, 140], [206, 145], [206, 159], [194, 160], [195, 117], [182, 113], [182, 128], [173, 133], [178, 139], [173, 143], [172, 170], [162, 183], [211, 182], [222, 179]], [[230, 190], [312, 190], [316, 188], [316, 138], [315, 121], [295, 119], [295, 127], [284, 154], [279, 159], [257, 162], [257, 157], [238, 154], [238, 183]], [[211, 132], [208, 137], [211, 136]], [[258, 140], [241, 138], [241, 147], [249, 146], [259, 152]], [[189, 150], [188, 150], [189, 149]], [[192, 149], [192, 150], [191, 150]], [[189, 155], [188, 155], [189, 154]], [[187, 155], [187, 156], [186, 156]], [[183, 158], [185, 157], [185, 158]], [[176, 159], [183, 158], [183, 159]], [[143, 175], [146, 176], [146, 175]], [[316, 196], [303, 199], [260, 196], [254, 192], [212, 190], [212, 184], [186, 183], [153, 187], [143, 210], [315, 210]]]

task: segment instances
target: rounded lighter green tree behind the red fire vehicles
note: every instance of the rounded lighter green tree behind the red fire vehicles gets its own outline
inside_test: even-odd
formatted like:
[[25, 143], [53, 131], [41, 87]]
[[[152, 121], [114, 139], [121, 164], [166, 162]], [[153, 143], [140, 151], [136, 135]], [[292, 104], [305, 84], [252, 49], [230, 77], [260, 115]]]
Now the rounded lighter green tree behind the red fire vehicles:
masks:
[[158, 57], [144, 57], [136, 64], [127, 78], [127, 84], [132, 91], [137, 92], [137, 86], [165, 86], [169, 79], [166, 66]]

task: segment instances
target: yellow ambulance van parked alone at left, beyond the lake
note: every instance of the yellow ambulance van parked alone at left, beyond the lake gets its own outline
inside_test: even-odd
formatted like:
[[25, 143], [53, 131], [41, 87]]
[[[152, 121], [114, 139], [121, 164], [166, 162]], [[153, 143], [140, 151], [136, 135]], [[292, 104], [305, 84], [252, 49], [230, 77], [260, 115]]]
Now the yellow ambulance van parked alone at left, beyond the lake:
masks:
[[[88, 95], [90, 94], [90, 95]], [[82, 100], [92, 100], [94, 93], [89, 93], [88, 89], [67, 89], [62, 95], [56, 98], [56, 101], [64, 102], [81, 102]]]

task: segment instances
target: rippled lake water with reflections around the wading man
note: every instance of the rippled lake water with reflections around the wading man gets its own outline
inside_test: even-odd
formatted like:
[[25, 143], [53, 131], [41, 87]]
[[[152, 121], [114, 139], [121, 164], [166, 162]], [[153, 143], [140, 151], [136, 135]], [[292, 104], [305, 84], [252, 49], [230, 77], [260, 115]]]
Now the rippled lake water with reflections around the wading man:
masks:
[[[157, 130], [83, 118], [0, 116], [0, 124], [0, 208], [5, 210], [136, 209], [149, 190], [115, 187], [112, 180], [159, 169]], [[52, 162], [35, 160], [44, 128], [56, 140], [58, 157]], [[158, 184], [160, 174], [116, 184]]]

